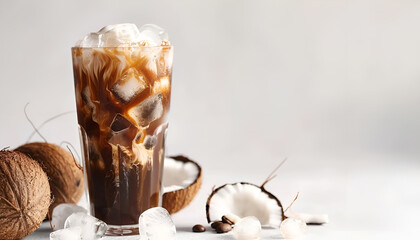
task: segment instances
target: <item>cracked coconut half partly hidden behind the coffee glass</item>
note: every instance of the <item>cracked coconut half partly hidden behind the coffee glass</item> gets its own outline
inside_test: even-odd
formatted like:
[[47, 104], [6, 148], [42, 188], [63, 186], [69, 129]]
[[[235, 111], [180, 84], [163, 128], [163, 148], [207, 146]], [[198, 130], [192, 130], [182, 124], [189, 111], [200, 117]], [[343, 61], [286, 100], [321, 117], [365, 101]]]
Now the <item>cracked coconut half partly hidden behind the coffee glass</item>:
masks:
[[179, 155], [165, 158], [162, 205], [170, 214], [185, 208], [201, 187], [201, 167]]

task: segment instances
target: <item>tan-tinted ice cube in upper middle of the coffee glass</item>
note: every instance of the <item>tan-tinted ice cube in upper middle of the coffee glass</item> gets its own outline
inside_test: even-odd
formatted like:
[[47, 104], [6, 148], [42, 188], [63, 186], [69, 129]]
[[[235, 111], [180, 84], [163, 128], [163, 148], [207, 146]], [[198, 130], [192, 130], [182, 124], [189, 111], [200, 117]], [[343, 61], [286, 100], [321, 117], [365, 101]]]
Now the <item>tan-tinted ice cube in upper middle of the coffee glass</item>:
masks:
[[130, 102], [146, 88], [145, 76], [130, 68], [111, 88], [111, 92], [123, 103]]

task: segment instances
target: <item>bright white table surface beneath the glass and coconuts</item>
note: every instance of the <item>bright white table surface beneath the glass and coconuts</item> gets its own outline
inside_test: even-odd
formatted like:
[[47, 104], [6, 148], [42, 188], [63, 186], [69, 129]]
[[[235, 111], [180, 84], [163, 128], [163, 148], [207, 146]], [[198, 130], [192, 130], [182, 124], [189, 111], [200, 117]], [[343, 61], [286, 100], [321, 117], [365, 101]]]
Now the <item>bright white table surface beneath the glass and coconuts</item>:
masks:
[[[387, 160], [389, 159], [389, 161]], [[407, 160], [407, 161], [406, 161]], [[300, 197], [294, 211], [328, 213], [330, 223], [309, 226], [305, 240], [337, 239], [418, 239], [420, 194], [420, 161], [392, 157], [364, 157], [353, 161], [314, 160], [306, 166], [299, 158], [290, 159], [279, 170], [278, 177], [267, 184], [267, 189], [288, 206], [297, 191]], [[261, 174], [235, 171], [203, 172], [203, 186], [193, 202], [173, 215], [177, 239], [234, 239], [228, 234], [212, 230], [193, 233], [191, 227], [205, 225], [205, 201], [214, 185], [228, 182], [262, 182]], [[210, 229], [210, 228], [208, 228]], [[48, 239], [48, 223], [30, 239]], [[120, 237], [105, 239], [136, 239]], [[264, 229], [262, 239], [282, 239], [278, 229]]]

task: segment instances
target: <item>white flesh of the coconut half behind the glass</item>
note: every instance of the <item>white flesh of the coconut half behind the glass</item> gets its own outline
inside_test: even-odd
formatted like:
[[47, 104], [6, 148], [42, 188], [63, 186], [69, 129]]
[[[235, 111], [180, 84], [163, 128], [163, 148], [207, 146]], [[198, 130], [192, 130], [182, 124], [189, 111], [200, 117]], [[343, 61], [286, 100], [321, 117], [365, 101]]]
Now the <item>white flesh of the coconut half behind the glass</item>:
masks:
[[165, 158], [163, 167], [163, 192], [187, 188], [198, 178], [200, 170], [191, 162]]

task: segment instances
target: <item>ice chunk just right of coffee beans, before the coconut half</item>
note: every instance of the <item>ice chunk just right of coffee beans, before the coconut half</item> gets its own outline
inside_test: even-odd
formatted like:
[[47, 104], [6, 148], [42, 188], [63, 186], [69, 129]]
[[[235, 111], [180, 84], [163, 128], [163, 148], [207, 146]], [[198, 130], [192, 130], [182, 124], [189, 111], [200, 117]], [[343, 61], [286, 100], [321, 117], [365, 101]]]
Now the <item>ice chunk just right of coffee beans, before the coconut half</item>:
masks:
[[235, 223], [233, 236], [237, 240], [258, 240], [261, 237], [261, 223], [254, 216], [244, 217]]

